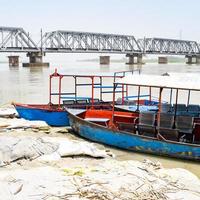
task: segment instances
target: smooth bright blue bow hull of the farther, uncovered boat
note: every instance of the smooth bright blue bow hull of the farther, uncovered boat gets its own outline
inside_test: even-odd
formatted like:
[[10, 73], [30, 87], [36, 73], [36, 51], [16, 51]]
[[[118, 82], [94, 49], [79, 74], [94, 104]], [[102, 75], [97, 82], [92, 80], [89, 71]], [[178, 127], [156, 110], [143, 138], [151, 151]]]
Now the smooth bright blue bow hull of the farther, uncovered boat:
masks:
[[15, 106], [19, 116], [27, 120], [42, 120], [50, 126], [69, 126], [68, 113], [64, 110]]

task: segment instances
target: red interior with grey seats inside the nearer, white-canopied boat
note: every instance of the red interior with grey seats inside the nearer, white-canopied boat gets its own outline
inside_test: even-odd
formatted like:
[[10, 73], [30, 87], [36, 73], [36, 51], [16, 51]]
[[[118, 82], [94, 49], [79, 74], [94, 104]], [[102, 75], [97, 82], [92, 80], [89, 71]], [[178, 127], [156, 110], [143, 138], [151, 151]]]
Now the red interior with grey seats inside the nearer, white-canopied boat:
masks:
[[188, 115], [174, 116], [173, 112], [161, 112], [159, 124], [157, 112], [115, 111], [113, 115], [110, 110], [89, 109], [78, 116], [86, 121], [131, 134], [200, 144], [200, 117], [194, 117], [188, 111], [186, 114]]

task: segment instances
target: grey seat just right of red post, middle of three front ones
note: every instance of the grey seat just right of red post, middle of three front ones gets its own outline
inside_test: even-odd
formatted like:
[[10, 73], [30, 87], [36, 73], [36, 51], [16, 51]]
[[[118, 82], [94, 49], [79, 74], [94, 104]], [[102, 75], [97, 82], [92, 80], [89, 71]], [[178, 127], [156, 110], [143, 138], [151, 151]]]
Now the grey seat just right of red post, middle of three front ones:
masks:
[[173, 129], [174, 115], [171, 113], [160, 113], [160, 124], [157, 127], [158, 133], [166, 140], [178, 141], [179, 133]]

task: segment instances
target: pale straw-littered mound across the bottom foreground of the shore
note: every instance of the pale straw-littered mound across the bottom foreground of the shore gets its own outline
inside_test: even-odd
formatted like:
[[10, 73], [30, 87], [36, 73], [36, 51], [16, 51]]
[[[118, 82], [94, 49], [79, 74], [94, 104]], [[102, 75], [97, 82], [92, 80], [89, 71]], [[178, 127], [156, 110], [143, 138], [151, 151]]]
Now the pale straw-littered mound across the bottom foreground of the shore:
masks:
[[0, 199], [200, 199], [200, 181], [184, 169], [105, 159], [95, 167], [0, 171]]

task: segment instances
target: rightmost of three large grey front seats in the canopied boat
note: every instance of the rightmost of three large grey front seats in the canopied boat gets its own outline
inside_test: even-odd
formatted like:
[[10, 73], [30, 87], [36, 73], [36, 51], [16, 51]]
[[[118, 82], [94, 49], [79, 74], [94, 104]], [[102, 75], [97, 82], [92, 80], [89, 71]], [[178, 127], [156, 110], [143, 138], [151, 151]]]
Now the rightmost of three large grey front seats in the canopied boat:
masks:
[[185, 135], [186, 140], [193, 141], [194, 117], [176, 116], [176, 128], [179, 130], [179, 137]]

